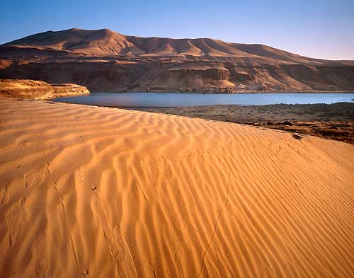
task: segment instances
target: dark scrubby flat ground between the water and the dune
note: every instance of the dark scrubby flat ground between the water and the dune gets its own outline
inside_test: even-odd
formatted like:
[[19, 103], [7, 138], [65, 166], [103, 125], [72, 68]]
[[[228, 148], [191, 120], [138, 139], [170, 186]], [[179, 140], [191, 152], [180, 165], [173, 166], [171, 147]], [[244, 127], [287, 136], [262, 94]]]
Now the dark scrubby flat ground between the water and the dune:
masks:
[[354, 144], [354, 103], [123, 109], [248, 124]]

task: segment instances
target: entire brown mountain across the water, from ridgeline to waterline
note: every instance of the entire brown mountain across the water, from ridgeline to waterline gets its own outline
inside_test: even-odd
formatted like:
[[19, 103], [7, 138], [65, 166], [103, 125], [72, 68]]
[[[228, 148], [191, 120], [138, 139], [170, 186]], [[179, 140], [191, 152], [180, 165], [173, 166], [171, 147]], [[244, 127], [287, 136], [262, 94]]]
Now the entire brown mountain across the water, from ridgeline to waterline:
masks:
[[210, 38], [69, 29], [0, 46], [0, 77], [91, 91], [354, 91], [354, 62]]

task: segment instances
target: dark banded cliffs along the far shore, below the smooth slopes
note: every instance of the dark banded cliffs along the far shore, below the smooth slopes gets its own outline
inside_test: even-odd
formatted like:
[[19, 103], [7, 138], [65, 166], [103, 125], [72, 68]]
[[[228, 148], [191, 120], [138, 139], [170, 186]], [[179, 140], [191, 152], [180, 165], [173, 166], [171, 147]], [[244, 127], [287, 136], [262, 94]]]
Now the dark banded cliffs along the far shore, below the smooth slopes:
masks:
[[90, 91], [354, 91], [354, 66], [221, 64], [3, 60], [0, 78], [76, 83]]

